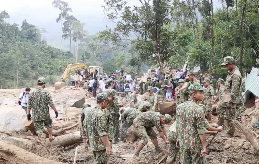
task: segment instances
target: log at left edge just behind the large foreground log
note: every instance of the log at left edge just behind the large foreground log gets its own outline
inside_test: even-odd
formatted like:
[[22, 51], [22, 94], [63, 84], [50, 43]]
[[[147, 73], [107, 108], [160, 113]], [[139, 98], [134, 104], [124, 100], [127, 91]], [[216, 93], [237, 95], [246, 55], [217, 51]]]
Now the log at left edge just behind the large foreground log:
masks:
[[20, 147], [25, 150], [29, 150], [32, 148], [32, 142], [27, 139], [1, 136], [0, 140], [7, 141], [7, 142], [11, 143], [12, 145], [15, 145], [15, 146]]

